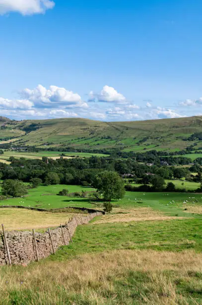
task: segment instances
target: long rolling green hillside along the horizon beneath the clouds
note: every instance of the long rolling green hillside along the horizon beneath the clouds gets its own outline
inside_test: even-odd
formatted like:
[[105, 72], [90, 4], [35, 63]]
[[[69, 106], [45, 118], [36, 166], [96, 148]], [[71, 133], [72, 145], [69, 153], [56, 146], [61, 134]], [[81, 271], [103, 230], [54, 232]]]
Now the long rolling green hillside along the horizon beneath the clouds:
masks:
[[120, 149], [123, 151], [200, 149], [202, 117], [133, 122], [100, 122], [88, 119], [10, 121], [2, 118], [0, 144], [76, 149]]

